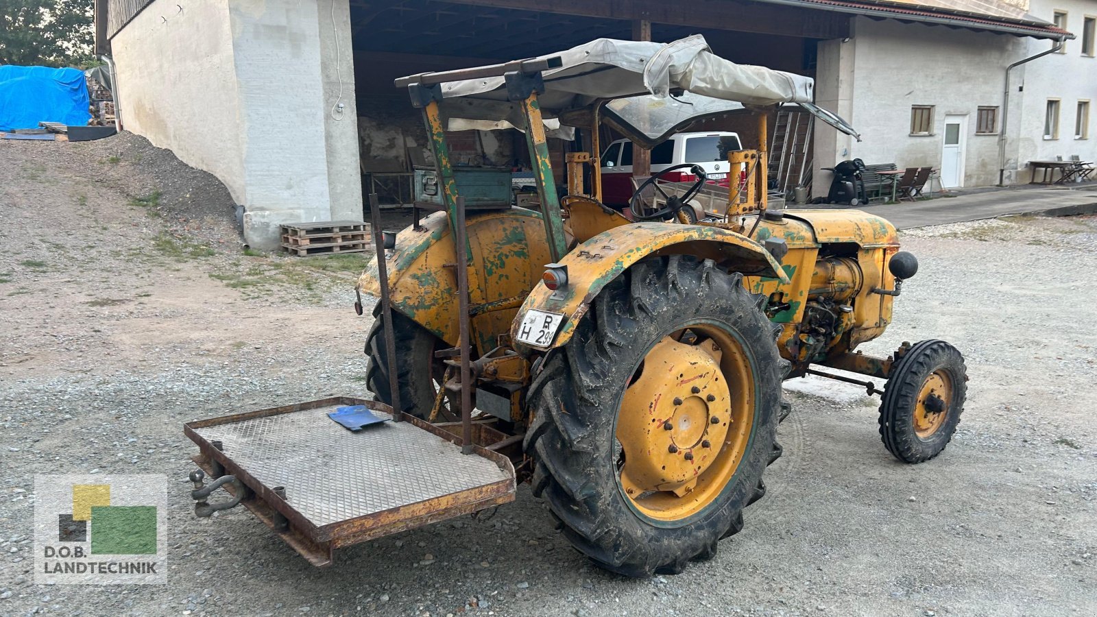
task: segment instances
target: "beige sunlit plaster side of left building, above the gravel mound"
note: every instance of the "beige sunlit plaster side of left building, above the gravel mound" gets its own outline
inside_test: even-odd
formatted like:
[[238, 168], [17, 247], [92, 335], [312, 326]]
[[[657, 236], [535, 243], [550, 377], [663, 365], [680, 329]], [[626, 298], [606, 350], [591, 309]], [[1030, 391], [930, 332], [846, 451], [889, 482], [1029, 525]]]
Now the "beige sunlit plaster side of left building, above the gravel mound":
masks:
[[228, 0], [156, 0], [112, 40], [123, 126], [248, 202]]

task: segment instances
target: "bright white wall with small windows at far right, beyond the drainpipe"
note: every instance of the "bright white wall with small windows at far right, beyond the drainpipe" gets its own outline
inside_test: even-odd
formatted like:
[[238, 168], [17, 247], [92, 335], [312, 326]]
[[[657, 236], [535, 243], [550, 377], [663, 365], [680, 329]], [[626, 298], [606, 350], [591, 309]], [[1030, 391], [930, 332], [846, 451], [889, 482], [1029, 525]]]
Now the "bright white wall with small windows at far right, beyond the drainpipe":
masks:
[[[1064, 54], [1049, 54], [1014, 70], [1010, 79], [1010, 105], [1019, 101], [1018, 123], [1008, 130], [1007, 173], [1016, 181], [1028, 182], [1030, 160], [1054, 160], [1078, 155], [1097, 160], [1097, 57], [1082, 55], [1083, 16], [1097, 18], [1097, 0], [1032, 0], [1029, 12], [1052, 21], [1054, 11], [1066, 11], [1066, 30], [1077, 38], [1067, 41]], [[1025, 40], [1025, 56], [1039, 54], [1050, 42]], [[1019, 91], [1024, 87], [1024, 91]], [[1059, 138], [1044, 139], [1044, 113], [1049, 98], [1061, 99]], [[1089, 101], [1089, 138], [1074, 138], [1078, 100]], [[1014, 122], [1010, 114], [1010, 122]]]

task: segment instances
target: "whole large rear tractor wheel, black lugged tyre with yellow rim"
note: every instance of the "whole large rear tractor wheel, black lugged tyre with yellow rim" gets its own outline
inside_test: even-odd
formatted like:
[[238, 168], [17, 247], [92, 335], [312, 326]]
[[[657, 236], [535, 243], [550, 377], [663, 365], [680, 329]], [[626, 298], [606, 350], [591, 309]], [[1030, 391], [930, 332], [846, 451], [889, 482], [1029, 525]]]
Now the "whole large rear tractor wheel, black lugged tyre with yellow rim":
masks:
[[651, 257], [545, 357], [528, 399], [534, 494], [602, 568], [681, 572], [765, 493], [788, 363], [764, 301], [712, 260]]

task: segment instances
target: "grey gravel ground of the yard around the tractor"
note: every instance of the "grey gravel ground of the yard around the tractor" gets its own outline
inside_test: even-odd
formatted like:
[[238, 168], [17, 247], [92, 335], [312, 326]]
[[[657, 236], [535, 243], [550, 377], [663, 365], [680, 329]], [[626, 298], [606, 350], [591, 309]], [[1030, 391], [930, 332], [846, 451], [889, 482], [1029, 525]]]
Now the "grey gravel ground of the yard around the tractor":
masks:
[[[1097, 218], [905, 233], [921, 270], [864, 349], [960, 348], [952, 444], [902, 465], [863, 390], [790, 382], [744, 531], [651, 580], [592, 566], [525, 486], [324, 570], [242, 508], [195, 519], [182, 423], [366, 394], [361, 258], [242, 254], [224, 188], [131, 135], [0, 145], [0, 239], [2, 615], [1097, 614]], [[36, 473], [166, 474], [168, 584], [33, 584]]]

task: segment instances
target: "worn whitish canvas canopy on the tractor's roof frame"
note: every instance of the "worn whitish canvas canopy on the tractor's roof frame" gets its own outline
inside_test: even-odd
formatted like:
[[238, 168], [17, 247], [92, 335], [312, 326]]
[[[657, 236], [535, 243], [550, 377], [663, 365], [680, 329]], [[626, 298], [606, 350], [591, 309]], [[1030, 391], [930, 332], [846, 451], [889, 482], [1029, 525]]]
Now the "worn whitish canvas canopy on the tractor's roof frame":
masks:
[[[812, 78], [726, 60], [712, 54], [701, 35], [672, 43], [598, 38], [540, 58], [558, 58], [561, 65], [542, 71], [545, 90], [538, 100], [544, 117], [610, 99], [608, 106], [613, 110], [614, 123], [624, 124], [621, 128], [642, 137], [636, 139], [641, 144], [654, 145], [676, 126], [744, 106], [785, 103], [801, 104], [827, 124], [858, 137], [848, 123], [812, 103]], [[397, 83], [415, 80], [416, 76], [411, 76]], [[452, 128], [522, 127], [522, 115], [508, 100], [504, 77], [445, 81], [441, 86], [440, 106]], [[651, 113], [626, 117], [618, 111], [625, 104]], [[664, 114], [668, 106], [677, 108], [671, 115]], [[666, 117], [655, 117], [661, 115]], [[658, 122], [653, 124], [653, 120]]]

